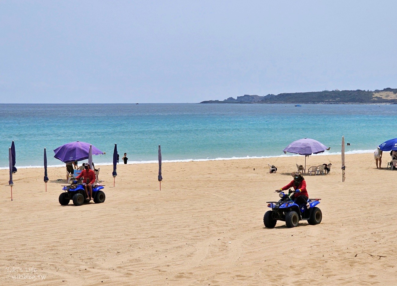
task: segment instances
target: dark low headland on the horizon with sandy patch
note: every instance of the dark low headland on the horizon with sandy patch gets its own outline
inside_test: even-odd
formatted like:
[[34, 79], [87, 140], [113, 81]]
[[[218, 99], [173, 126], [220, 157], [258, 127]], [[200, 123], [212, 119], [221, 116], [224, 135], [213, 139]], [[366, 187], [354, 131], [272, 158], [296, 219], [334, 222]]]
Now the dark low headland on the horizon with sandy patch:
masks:
[[200, 103], [389, 103], [397, 104], [397, 89], [385, 88], [383, 90], [323, 90], [322, 92], [297, 92], [268, 94], [264, 96], [249, 95], [238, 96], [237, 99], [229, 97], [223, 101], [208, 100]]

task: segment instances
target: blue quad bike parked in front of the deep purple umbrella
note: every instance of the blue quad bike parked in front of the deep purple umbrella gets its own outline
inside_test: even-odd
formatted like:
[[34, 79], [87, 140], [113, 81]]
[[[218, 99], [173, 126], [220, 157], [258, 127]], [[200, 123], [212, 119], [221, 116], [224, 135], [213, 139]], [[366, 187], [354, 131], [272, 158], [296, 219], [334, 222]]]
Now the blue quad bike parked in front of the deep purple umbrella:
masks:
[[[81, 179], [73, 181], [70, 185], [63, 186], [62, 190], [64, 190], [64, 193], [61, 193], [58, 199], [62, 206], [69, 204], [70, 200], [73, 200], [75, 206], [90, 202], [90, 200], [87, 200], [84, 186], [80, 182]], [[103, 186], [93, 186], [93, 198], [96, 204], [105, 201], [105, 193], [100, 191], [102, 189], [104, 189]]]

